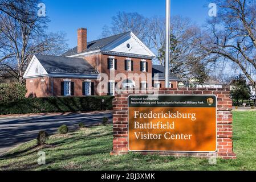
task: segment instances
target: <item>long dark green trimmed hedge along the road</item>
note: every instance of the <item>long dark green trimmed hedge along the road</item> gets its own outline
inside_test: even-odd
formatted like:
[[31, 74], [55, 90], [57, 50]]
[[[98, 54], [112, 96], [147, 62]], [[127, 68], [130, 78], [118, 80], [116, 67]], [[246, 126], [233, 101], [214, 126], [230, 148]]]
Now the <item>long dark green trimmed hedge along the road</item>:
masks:
[[0, 104], [0, 114], [64, 113], [112, 110], [112, 96], [26, 98]]

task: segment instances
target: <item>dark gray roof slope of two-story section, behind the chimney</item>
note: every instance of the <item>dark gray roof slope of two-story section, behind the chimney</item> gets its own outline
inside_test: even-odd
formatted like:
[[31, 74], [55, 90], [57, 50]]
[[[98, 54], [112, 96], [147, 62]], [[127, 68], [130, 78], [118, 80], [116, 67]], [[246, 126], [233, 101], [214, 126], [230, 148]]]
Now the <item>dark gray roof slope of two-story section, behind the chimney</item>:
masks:
[[[108, 44], [114, 42], [115, 40], [121, 38], [122, 36], [124, 36], [127, 33], [128, 32], [125, 32], [123, 34], [113, 35], [113, 36], [109, 36], [107, 38], [87, 42], [87, 49], [86, 49], [86, 51], [83, 51], [83, 52], [95, 51], [95, 50], [101, 49], [101, 48], [107, 46]], [[71, 56], [71, 55], [75, 55], [76, 53], [78, 53], [77, 46], [68, 50], [67, 52], [63, 53], [62, 56]]]

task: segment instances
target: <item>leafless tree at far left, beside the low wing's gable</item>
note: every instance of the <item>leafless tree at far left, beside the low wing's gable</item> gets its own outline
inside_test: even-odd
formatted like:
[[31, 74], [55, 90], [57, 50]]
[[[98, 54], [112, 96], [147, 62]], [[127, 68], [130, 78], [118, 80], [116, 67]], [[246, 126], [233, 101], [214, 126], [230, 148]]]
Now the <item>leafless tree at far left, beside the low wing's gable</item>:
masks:
[[32, 55], [62, 53], [64, 34], [47, 33], [47, 17], [38, 16], [36, 0], [0, 1], [0, 70], [23, 82]]

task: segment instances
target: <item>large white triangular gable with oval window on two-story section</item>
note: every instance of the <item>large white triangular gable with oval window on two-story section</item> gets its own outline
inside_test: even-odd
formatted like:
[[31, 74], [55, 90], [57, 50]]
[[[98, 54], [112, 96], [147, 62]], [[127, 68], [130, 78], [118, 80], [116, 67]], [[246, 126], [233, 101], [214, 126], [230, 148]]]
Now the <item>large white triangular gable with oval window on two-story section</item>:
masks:
[[[128, 46], [129, 45], [129, 46]], [[156, 55], [149, 49], [135, 34], [132, 32], [127, 33], [120, 39], [115, 40], [115, 42], [109, 44], [108, 46], [101, 49], [103, 51], [121, 52], [121, 53], [131, 53], [135, 55], [152, 56]]]

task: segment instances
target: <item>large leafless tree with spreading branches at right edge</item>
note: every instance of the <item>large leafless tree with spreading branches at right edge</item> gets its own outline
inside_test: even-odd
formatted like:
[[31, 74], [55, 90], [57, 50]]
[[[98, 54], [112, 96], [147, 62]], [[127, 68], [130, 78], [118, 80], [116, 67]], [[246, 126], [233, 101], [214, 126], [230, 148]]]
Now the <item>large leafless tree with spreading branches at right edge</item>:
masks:
[[256, 1], [221, 0], [217, 18], [211, 19], [204, 32], [197, 32], [198, 48], [208, 58], [232, 61], [256, 88]]

